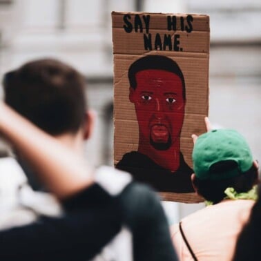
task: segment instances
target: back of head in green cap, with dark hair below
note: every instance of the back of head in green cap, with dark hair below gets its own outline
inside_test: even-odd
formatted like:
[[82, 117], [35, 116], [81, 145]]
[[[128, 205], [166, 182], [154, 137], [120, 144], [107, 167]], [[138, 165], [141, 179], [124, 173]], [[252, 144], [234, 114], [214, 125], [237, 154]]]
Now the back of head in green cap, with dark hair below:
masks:
[[224, 199], [227, 188], [247, 192], [258, 179], [249, 145], [233, 130], [200, 135], [193, 149], [193, 168], [197, 192], [214, 204]]

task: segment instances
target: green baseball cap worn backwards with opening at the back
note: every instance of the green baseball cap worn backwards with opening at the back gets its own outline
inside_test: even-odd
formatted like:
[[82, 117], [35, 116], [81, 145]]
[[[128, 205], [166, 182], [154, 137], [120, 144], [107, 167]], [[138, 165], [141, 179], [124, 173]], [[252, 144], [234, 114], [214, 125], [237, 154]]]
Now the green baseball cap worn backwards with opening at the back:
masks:
[[[193, 168], [200, 180], [224, 180], [248, 171], [253, 156], [246, 139], [234, 130], [213, 130], [197, 138], [193, 148]], [[211, 166], [217, 162], [233, 160], [238, 167], [222, 173], [211, 173]]]

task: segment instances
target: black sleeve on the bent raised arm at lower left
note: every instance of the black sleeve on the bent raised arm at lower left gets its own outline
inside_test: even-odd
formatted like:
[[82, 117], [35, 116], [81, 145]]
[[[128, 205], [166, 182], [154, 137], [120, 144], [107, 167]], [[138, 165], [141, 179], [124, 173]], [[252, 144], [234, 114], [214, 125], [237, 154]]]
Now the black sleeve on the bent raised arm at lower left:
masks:
[[89, 260], [121, 228], [117, 202], [94, 184], [63, 202], [64, 217], [0, 231], [0, 260]]

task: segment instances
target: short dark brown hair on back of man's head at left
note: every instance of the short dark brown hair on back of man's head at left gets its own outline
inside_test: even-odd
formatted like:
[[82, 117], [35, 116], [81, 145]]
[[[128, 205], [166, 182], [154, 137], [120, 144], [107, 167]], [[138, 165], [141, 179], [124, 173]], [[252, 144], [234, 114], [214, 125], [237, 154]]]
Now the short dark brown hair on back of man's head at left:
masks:
[[6, 104], [51, 135], [77, 133], [84, 123], [84, 77], [55, 59], [39, 59], [6, 73]]

